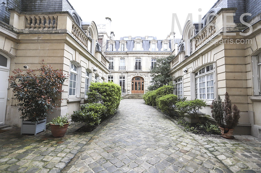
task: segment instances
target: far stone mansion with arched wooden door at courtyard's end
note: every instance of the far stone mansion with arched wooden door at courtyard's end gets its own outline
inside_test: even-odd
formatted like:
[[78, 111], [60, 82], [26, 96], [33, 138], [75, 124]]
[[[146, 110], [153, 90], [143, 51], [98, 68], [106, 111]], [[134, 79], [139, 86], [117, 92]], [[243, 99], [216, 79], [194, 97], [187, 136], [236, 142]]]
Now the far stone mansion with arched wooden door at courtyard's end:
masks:
[[104, 54], [109, 61], [108, 81], [119, 84], [122, 94], [144, 94], [151, 85], [149, 71], [156, 58], [172, 54], [171, 41], [149, 36], [109, 39]]

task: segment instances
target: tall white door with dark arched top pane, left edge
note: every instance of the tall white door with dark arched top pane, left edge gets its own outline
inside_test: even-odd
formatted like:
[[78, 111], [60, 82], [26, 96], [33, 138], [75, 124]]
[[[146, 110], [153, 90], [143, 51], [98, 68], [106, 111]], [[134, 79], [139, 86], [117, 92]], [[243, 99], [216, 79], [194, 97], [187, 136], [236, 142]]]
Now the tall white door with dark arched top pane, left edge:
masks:
[[0, 54], [0, 125], [4, 124], [9, 76], [9, 59]]

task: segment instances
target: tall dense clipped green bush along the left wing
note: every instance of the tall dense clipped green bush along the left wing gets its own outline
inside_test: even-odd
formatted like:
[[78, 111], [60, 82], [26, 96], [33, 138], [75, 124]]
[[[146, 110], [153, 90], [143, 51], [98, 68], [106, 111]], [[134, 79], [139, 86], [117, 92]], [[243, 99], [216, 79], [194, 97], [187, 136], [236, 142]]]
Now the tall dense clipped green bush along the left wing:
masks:
[[112, 82], [91, 83], [88, 101], [101, 103], [106, 107], [105, 116], [113, 115], [120, 105], [121, 87]]

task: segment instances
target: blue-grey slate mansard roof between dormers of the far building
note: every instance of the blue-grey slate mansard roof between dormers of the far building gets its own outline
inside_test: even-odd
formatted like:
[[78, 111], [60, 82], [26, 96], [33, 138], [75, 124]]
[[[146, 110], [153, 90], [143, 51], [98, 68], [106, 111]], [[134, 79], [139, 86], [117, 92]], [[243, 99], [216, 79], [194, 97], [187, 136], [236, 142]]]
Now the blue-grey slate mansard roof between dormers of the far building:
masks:
[[[157, 39], [157, 37], [153, 37], [153, 39]], [[120, 38], [120, 40], [114, 40], [115, 41], [115, 51], [118, 51], [118, 49], [120, 48], [120, 41], [123, 40], [123, 37]], [[132, 37], [132, 40], [126, 40], [127, 44], [126, 44], [126, 48], [128, 49], [128, 51], [133, 51], [134, 48], [134, 40], [135, 37]], [[142, 42], [142, 47], [143, 47], [143, 51], [149, 51], [150, 49], [150, 40], [145, 40], [145, 37], [141, 37]], [[157, 40], [157, 48], [160, 51], [162, 48], [162, 40]], [[107, 42], [108, 44], [108, 42]], [[169, 40], [169, 48], [171, 50], [171, 41]]]

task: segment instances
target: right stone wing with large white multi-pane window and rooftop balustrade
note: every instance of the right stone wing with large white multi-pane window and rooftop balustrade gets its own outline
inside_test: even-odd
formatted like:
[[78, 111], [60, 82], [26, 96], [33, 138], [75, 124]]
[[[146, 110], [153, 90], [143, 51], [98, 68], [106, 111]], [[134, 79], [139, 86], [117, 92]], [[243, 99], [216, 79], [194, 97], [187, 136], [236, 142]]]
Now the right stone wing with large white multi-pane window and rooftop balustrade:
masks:
[[174, 93], [188, 100], [205, 100], [208, 106], [203, 113], [211, 115], [212, 100], [218, 96], [224, 100], [227, 91], [240, 109], [238, 132], [259, 138], [260, 11], [260, 1], [218, 1], [201, 23], [187, 21], [178, 53], [170, 62], [177, 86]]

